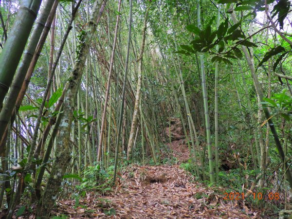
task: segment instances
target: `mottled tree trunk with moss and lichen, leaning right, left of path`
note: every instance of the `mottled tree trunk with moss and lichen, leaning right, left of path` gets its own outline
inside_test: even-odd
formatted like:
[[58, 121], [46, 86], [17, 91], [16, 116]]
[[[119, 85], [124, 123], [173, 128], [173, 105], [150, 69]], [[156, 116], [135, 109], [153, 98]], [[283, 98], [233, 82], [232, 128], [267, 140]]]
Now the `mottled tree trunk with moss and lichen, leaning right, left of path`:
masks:
[[65, 101], [63, 103], [63, 118], [60, 123], [59, 135], [57, 136], [56, 158], [55, 163], [52, 166], [52, 171], [47, 182], [47, 186], [43, 195], [43, 199], [40, 201], [37, 212], [37, 217], [49, 218], [50, 211], [54, 206], [56, 198], [58, 196], [59, 186], [63, 180], [63, 176], [66, 172], [68, 163], [70, 163], [70, 131], [72, 124], [73, 109], [75, 103], [76, 93], [80, 85], [81, 77], [83, 74], [85, 62], [89, 53], [89, 44], [94, 35], [98, 12], [101, 6], [101, 0], [96, 0], [92, 7], [90, 22], [87, 26], [87, 31], [80, 40], [79, 55], [75, 63], [70, 80], [67, 82], [68, 87], [66, 92]]

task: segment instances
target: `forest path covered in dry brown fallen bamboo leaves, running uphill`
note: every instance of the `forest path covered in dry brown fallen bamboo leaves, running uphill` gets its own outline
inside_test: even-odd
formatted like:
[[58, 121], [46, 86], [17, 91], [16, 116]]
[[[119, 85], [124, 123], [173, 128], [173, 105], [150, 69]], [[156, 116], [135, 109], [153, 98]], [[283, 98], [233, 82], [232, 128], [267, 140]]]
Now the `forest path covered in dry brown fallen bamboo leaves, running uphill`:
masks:
[[75, 200], [61, 200], [53, 213], [75, 219], [260, 218], [260, 212], [250, 209], [242, 200], [223, 200], [224, 188], [208, 188], [180, 168], [189, 158], [188, 148], [179, 134], [182, 130], [174, 124], [171, 131], [171, 152], [177, 164], [131, 165], [120, 172], [117, 186], [106, 195], [87, 192], [79, 199], [78, 207]]

